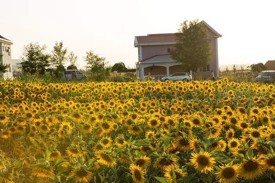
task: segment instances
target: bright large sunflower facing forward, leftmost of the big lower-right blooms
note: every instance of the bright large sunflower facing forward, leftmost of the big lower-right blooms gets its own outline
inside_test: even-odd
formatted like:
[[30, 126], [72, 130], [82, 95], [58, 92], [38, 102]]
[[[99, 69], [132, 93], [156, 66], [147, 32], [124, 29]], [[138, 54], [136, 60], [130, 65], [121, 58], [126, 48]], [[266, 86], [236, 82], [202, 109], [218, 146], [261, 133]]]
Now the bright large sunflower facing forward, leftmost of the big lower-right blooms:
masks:
[[199, 154], [192, 153], [191, 156], [190, 162], [197, 171], [206, 173], [207, 170], [213, 170], [214, 158], [211, 158], [207, 152], [200, 151]]

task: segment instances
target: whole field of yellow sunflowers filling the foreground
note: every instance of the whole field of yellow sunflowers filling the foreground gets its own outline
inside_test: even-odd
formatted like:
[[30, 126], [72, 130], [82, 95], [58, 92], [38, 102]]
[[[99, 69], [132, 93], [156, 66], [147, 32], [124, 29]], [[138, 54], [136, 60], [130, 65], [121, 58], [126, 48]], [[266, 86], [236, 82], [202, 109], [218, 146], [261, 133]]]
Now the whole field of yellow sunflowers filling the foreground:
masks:
[[273, 84], [0, 81], [0, 182], [274, 182]]

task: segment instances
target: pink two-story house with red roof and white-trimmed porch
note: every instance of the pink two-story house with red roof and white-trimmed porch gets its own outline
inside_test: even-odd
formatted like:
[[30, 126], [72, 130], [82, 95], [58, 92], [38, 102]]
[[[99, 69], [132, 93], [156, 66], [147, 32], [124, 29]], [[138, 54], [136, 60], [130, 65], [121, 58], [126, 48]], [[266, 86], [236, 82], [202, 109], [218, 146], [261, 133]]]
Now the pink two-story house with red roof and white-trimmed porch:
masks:
[[[218, 77], [218, 49], [217, 38], [222, 37], [205, 21], [202, 21], [207, 28], [208, 36], [211, 38], [212, 58], [213, 61], [197, 72], [193, 72], [194, 79], [206, 79], [210, 77], [213, 70]], [[139, 52], [139, 61], [135, 63], [136, 77], [141, 81], [147, 76], [160, 80], [164, 76], [169, 76], [177, 72], [186, 71], [182, 64], [171, 58], [169, 50], [175, 49], [176, 36], [171, 34], [149, 34], [147, 36], [135, 36], [134, 46]]]

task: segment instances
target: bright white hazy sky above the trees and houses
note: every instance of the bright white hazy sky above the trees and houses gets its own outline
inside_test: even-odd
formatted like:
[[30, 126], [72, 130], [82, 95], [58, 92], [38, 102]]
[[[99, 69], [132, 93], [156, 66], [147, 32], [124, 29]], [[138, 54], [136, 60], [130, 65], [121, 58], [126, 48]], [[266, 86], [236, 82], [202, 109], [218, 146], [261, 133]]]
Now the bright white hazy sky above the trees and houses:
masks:
[[134, 67], [134, 36], [175, 33], [184, 20], [204, 20], [218, 38], [219, 65], [275, 59], [275, 1], [216, 0], [6, 0], [0, 3], [0, 35], [13, 41], [12, 58], [24, 45], [48, 47], [63, 41], [83, 57], [93, 50], [109, 64]]

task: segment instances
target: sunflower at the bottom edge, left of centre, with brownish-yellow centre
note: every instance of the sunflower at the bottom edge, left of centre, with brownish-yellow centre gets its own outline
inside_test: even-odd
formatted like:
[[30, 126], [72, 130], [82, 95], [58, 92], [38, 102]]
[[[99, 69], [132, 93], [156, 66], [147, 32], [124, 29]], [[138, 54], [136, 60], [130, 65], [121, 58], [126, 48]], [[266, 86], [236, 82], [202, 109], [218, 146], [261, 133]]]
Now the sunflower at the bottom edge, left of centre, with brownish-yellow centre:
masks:
[[75, 176], [76, 183], [90, 182], [93, 179], [93, 173], [88, 171], [87, 168], [75, 168], [71, 171], [70, 176]]

